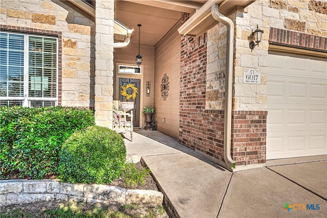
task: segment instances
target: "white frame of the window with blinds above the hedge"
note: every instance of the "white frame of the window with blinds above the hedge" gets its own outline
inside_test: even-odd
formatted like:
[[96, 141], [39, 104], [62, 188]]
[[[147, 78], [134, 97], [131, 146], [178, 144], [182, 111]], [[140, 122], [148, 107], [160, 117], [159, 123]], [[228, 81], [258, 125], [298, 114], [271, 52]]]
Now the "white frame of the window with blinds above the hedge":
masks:
[[[31, 101], [51, 101], [55, 102], [55, 106], [58, 105], [58, 37], [54, 36], [43, 36], [43, 35], [37, 35], [37, 34], [25, 34], [25, 33], [13, 33], [9, 31], [1, 31], [2, 33], [12, 34], [12, 35], [24, 35], [24, 96], [15, 97], [15, 96], [0, 96], [0, 100], [8, 101], [8, 100], [16, 100], [16, 101], [22, 101], [22, 107], [31, 107]], [[29, 96], [29, 37], [30, 36], [36, 36], [41, 38], [53, 38], [56, 39], [56, 98], [50, 98], [50, 97], [30, 97]], [[43, 105], [43, 103], [42, 103]]]

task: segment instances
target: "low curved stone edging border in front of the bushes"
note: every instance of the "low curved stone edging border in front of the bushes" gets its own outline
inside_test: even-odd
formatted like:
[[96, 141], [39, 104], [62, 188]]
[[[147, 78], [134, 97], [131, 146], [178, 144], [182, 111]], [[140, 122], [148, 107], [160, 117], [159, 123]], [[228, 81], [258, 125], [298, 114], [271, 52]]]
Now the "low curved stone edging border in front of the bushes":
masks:
[[161, 206], [164, 195], [155, 190], [70, 184], [62, 183], [58, 179], [0, 181], [0, 204], [2, 206], [58, 200], [120, 205], [137, 203], [156, 207]]

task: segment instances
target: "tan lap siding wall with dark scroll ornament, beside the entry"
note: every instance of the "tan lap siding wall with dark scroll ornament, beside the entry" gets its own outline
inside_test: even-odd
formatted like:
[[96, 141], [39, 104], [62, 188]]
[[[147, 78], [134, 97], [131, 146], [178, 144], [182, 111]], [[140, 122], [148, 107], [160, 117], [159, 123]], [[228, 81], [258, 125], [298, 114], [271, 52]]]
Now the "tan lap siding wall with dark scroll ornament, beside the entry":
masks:
[[[180, 80], [180, 42], [177, 32], [180, 22], [171, 29], [155, 47], [155, 99], [157, 130], [174, 138], [179, 136], [179, 80]], [[161, 80], [169, 77], [169, 95], [164, 101], [161, 98]], [[162, 119], [166, 120], [165, 123]]]

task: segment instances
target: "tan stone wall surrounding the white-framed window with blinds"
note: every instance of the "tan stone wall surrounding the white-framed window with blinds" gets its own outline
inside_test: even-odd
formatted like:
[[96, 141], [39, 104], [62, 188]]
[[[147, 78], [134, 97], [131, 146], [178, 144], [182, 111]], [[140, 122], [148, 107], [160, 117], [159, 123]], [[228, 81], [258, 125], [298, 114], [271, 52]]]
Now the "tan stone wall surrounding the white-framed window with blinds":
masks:
[[60, 1], [50, 0], [2, 0], [0, 22], [2, 30], [52, 36], [61, 33], [58, 104], [94, 107], [94, 90], [90, 88], [91, 81], [94, 81], [91, 76], [94, 74], [94, 64], [91, 64], [94, 22]]

